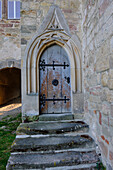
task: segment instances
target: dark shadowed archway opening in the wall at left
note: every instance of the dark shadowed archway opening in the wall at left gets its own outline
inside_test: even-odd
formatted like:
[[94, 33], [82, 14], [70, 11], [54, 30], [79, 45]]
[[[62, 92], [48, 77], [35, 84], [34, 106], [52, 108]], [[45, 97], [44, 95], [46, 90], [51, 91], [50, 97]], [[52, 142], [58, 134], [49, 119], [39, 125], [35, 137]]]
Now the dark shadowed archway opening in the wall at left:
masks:
[[0, 105], [21, 96], [21, 70], [5, 68], [0, 70]]

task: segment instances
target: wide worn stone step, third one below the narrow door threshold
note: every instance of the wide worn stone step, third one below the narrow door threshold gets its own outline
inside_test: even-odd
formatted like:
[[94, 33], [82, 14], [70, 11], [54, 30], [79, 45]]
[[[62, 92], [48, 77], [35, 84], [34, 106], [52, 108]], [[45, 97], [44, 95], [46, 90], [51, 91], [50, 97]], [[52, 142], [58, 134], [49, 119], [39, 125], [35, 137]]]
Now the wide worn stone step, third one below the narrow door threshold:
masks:
[[95, 151], [60, 153], [17, 153], [11, 154], [8, 160], [7, 170], [16, 169], [44, 169], [49, 167], [73, 166], [80, 164], [92, 164], [98, 162]]

